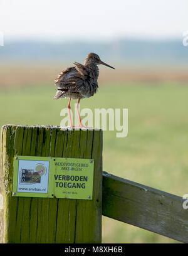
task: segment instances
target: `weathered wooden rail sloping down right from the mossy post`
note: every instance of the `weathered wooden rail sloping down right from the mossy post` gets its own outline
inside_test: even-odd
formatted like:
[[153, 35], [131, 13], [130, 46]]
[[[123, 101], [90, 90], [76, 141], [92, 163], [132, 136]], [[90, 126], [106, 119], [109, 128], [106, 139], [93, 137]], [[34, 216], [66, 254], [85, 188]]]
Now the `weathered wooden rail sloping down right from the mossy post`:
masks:
[[183, 201], [103, 172], [103, 215], [188, 243], [188, 210]]

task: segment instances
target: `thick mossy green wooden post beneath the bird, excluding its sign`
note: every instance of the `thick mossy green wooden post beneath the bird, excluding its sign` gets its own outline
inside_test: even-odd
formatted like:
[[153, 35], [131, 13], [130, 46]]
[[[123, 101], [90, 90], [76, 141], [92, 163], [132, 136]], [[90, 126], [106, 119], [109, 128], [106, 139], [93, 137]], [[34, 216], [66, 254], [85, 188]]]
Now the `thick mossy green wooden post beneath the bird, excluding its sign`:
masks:
[[[102, 239], [102, 131], [4, 125], [1, 141], [1, 242], [100, 243]], [[93, 200], [13, 197], [13, 157], [95, 159]], [[1, 211], [1, 210], [0, 210]], [[2, 213], [2, 211], [0, 212]]]

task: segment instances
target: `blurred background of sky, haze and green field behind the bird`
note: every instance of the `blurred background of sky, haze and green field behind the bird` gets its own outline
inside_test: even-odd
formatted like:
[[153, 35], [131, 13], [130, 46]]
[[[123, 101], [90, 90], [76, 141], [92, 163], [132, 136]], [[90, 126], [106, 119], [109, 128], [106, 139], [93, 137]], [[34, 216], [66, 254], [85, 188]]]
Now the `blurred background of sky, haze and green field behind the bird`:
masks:
[[[187, 0], [1, 1], [0, 125], [60, 125], [68, 99], [53, 100], [54, 80], [95, 52], [116, 69], [100, 66], [99, 90], [80, 110], [128, 109], [127, 137], [103, 132], [103, 171], [185, 195], [187, 8]], [[103, 242], [175, 241], [103, 217]]]

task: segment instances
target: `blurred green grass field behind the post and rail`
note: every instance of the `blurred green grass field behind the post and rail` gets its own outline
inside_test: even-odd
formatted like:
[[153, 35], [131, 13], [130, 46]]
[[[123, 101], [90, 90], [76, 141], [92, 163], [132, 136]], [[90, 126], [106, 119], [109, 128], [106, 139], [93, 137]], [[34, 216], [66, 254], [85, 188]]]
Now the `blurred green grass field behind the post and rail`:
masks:
[[[53, 85], [1, 89], [0, 125], [60, 125], [68, 99], [53, 100]], [[175, 195], [188, 193], [188, 86], [178, 83], [103, 84], [80, 109], [127, 108], [128, 136], [103, 132], [103, 170]], [[139, 195], [138, 195], [139, 196]], [[103, 218], [103, 242], [174, 242]]]

